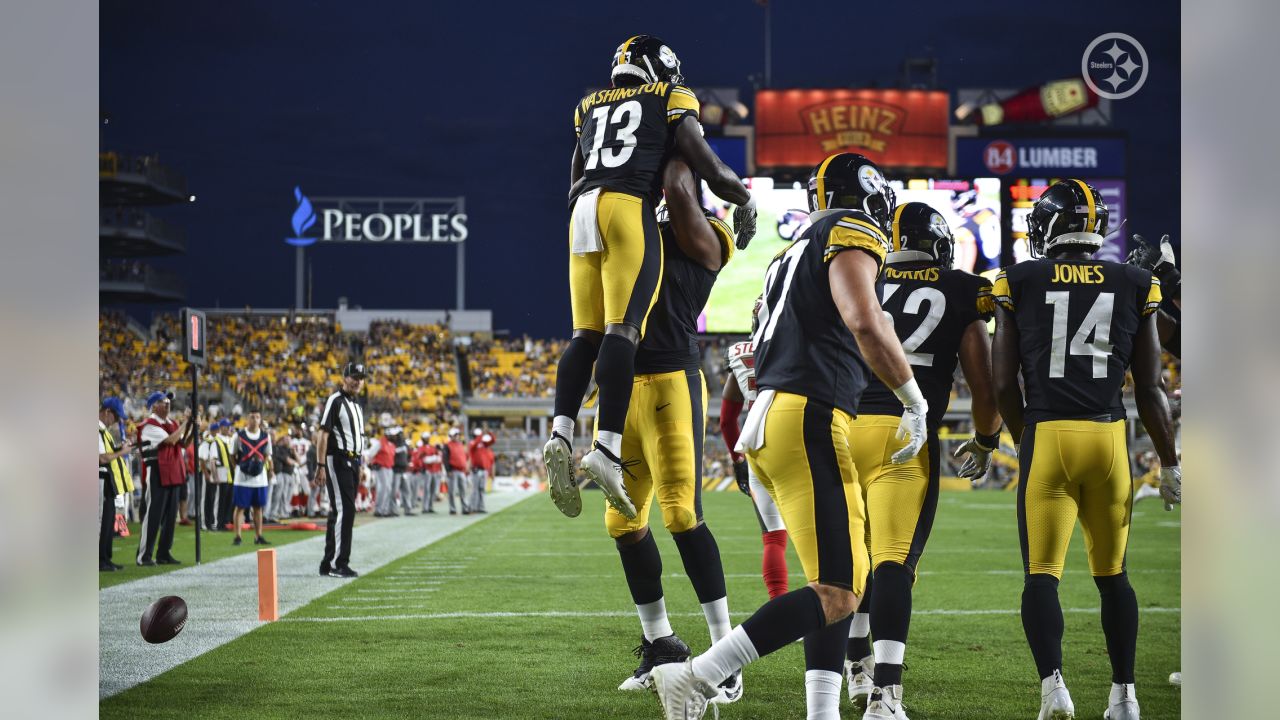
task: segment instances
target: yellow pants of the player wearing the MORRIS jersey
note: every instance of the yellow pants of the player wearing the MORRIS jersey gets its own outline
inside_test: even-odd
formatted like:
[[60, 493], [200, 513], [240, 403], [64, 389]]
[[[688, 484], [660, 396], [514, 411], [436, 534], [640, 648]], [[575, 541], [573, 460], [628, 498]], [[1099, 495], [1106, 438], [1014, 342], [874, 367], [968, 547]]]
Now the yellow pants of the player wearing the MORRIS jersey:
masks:
[[859, 415], [849, 424], [849, 448], [867, 503], [867, 534], [872, 570], [899, 562], [915, 571], [938, 510], [938, 438], [911, 460], [895, 465], [890, 457], [904, 441], [896, 439], [897, 415]]

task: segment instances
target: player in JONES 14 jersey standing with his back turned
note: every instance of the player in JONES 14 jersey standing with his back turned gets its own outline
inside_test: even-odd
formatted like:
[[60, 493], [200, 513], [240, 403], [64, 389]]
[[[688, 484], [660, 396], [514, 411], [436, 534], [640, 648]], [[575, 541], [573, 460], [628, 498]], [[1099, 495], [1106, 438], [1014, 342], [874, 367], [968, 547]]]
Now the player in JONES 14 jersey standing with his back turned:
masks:
[[[1125, 574], [1133, 511], [1125, 370], [1161, 464], [1170, 503], [1181, 501], [1172, 418], [1160, 374], [1160, 281], [1133, 265], [1094, 260], [1107, 206], [1078, 179], [1055, 183], [1028, 217], [1033, 260], [996, 275], [993, 379], [1000, 414], [1019, 445], [1018, 532], [1023, 629], [1041, 678], [1041, 720], [1075, 716], [1062, 682], [1057, 584], [1075, 520], [1102, 601], [1111, 660], [1103, 717], [1134, 720], [1138, 598]], [[1025, 396], [1019, 386], [1025, 384]]]

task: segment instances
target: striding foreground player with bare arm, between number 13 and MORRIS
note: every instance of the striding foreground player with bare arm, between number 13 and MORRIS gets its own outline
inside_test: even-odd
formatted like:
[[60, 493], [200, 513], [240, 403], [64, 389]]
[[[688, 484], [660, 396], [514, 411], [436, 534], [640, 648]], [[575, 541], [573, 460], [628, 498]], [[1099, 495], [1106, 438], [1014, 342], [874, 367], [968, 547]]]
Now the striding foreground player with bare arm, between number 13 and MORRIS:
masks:
[[809, 177], [809, 229], [765, 272], [753, 336], [759, 395], [741, 446], [773, 496], [808, 584], [768, 601], [689, 662], [659, 665], [654, 689], [671, 719], [701, 717], [716, 685], [797, 638], [805, 643], [810, 719], [840, 717], [841, 662], [868, 556], [849, 423], [872, 372], [896, 388], [910, 460], [924, 445], [928, 402], [876, 296], [893, 192], [874, 163], [841, 152]]

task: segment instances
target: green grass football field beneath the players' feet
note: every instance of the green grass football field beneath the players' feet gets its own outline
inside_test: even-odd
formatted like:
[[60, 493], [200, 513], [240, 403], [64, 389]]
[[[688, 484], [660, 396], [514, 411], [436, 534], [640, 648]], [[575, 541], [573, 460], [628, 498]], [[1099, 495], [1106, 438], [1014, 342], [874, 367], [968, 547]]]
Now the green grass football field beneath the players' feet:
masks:
[[[741, 621], [765, 600], [755, 516], [736, 492], [707, 493], [704, 503]], [[1129, 546], [1143, 609], [1138, 696], [1151, 720], [1180, 714], [1180, 691], [1166, 683], [1181, 644], [1179, 519], [1156, 501], [1139, 505]], [[669, 536], [655, 536], [672, 625], [701, 651], [696, 598]], [[913, 720], [1034, 717], [1014, 495], [943, 493], [920, 569], [904, 678]], [[1079, 530], [1061, 597], [1068, 685], [1079, 717], [1101, 717], [1110, 666]], [[639, 632], [599, 512], [568, 520], [534, 497], [102, 702], [101, 716], [660, 717], [657, 696], [614, 689], [635, 667]], [[744, 680], [744, 698], [722, 717], [804, 715], [800, 644], [751, 665]], [[844, 717], [854, 717], [847, 701]]]

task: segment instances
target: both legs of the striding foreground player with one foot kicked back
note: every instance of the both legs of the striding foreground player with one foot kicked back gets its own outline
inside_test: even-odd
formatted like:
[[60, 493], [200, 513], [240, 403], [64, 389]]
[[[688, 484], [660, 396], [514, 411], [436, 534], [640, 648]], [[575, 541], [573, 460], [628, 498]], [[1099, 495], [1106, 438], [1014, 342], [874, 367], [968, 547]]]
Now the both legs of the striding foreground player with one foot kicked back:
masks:
[[700, 707], [726, 678], [804, 637], [808, 670], [823, 673], [827, 691], [814, 698], [820, 706], [810, 706], [810, 717], [838, 717], [842, 621], [858, 605], [868, 565], [847, 424], [849, 416], [829, 406], [788, 393], [774, 397], [767, 445], [748, 460], [772, 489], [809, 583], [767, 602], [687, 666], [657, 667], [655, 689], [668, 714], [686, 703]]

